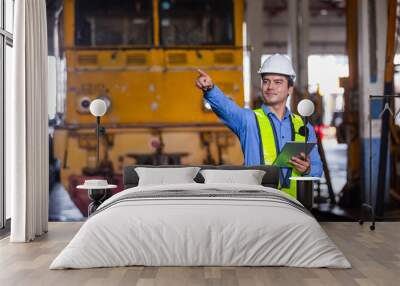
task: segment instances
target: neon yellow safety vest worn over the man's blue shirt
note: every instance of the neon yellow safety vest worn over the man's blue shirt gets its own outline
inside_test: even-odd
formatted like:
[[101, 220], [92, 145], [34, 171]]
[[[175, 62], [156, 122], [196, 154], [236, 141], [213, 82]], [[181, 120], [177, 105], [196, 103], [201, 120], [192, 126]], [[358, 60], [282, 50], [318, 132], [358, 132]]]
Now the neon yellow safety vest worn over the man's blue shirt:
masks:
[[[260, 156], [261, 163], [265, 165], [272, 165], [275, 161], [277, 154], [280, 152], [279, 146], [277, 145], [277, 139], [275, 138], [276, 132], [273, 126], [272, 119], [270, 119], [262, 108], [253, 110], [257, 119], [259, 136], [260, 136]], [[292, 140], [298, 142], [304, 142], [305, 137], [299, 134], [299, 129], [304, 126], [303, 119], [299, 115], [290, 115], [292, 125]], [[293, 136], [294, 135], [294, 136]], [[294, 137], [294, 138], [293, 138]], [[301, 174], [295, 169], [289, 170], [292, 172], [292, 177], [300, 177]], [[280, 180], [279, 180], [280, 181]], [[297, 198], [296, 181], [290, 180], [289, 188], [281, 188], [281, 182], [279, 182], [279, 189], [285, 193]]]

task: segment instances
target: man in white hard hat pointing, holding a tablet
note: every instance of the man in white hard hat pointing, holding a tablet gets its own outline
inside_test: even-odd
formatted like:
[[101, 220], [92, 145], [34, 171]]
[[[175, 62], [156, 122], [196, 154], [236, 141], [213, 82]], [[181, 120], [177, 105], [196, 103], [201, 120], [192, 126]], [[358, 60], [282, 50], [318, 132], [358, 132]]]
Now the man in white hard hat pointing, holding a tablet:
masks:
[[[241, 108], [214, 85], [211, 77], [198, 70], [196, 86], [203, 90], [205, 99], [212, 110], [239, 138], [245, 165], [271, 165], [277, 154], [288, 141], [305, 141], [304, 122], [299, 115], [292, 113], [286, 102], [293, 92], [296, 74], [290, 60], [279, 54], [268, 57], [261, 65], [261, 88], [264, 104], [261, 108], [250, 110]], [[307, 124], [307, 142], [316, 142], [311, 124]], [[302, 134], [303, 133], [303, 134]], [[322, 175], [322, 163], [317, 147], [310, 156], [304, 153], [292, 157], [292, 168], [280, 169], [280, 188], [297, 197], [296, 182], [291, 176]]]

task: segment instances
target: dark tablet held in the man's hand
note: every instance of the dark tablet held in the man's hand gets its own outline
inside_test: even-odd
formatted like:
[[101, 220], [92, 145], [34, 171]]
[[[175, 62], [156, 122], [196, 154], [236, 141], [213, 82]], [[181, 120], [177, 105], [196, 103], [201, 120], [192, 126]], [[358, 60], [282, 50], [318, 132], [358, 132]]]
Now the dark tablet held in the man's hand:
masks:
[[293, 167], [289, 160], [293, 156], [298, 156], [300, 153], [306, 153], [306, 155], [310, 154], [311, 150], [317, 143], [305, 143], [305, 142], [287, 142], [282, 151], [276, 157], [275, 161], [272, 163], [273, 166], [281, 167], [281, 168], [291, 168]]

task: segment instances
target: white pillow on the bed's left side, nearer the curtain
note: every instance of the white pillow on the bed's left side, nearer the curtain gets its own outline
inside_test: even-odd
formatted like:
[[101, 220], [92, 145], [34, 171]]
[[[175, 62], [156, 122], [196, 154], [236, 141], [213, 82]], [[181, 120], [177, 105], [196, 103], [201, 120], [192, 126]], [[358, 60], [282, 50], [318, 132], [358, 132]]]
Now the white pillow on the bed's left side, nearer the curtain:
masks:
[[193, 179], [199, 170], [199, 167], [135, 168], [139, 176], [138, 186], [195, 183]]

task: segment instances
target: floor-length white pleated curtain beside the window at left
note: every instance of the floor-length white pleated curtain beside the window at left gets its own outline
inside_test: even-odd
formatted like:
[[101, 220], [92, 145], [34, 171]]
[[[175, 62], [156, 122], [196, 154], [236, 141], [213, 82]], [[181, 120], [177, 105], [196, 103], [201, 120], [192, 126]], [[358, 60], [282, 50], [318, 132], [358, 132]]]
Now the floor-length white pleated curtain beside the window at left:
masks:
[[12, 242], [47, 232], [48, 127], [45, 0], [15, 1], [13, 94], [6, 98], [6, 187]]

